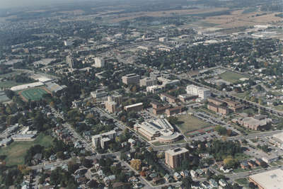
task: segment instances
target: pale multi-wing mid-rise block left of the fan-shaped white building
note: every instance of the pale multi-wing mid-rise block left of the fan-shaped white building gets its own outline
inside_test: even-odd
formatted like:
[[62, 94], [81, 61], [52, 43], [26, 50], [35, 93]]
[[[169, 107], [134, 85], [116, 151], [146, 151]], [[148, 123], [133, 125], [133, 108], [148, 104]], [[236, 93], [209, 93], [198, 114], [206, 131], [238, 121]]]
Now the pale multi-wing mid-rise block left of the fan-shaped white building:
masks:
[[100, 145], [100, 147], [104, 149], [111, 140], [115, 139], [116, 136], [117, 136], [116, 130], [105, 132], [103, 134], [97, 134], [91, 137], [93, 147], [96, 148], [98, 147], [98, 145]]

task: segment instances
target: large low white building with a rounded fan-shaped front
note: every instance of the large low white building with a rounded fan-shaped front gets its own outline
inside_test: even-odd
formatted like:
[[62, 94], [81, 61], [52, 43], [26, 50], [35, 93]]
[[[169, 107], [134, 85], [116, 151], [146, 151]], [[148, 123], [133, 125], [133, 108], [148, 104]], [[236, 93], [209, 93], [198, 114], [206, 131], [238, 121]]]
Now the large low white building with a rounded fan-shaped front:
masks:
[[134, 130], [149, 140], [158, 142], [175, 142], [180, 138], [180, 133], [174, 132], [174, 127], [166, 119], [154, 119], [134, 125]]

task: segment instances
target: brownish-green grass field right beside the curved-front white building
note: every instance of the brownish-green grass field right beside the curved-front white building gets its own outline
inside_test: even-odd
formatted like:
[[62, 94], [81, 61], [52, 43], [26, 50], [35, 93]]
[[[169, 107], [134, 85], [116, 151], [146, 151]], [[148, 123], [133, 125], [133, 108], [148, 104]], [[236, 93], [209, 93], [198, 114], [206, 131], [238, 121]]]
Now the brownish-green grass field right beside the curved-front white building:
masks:
[[181, 115], [178, 117], [178, 122], [182, 122], [178, 124], [178, 127], [186, 136], [187, 132], [211, 126], [209, 123], [204, 122], [193, 115]]

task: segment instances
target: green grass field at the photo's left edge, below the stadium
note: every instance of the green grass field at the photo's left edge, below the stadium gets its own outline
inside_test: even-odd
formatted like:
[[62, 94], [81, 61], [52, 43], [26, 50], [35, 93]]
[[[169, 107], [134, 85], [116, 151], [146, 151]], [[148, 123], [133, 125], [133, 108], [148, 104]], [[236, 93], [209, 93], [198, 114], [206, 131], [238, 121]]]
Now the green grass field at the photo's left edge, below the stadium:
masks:
[[24, 157], [26, 152], [35, 144], [40, 144], [44, 147], [50, 147], [52, 144], [52, 137], [41, 133], [34, 141], [13, 142], [8, 147], [1, 147], [0, 155], [6, 156], [5, 161], [7, 166], [24, 164]]

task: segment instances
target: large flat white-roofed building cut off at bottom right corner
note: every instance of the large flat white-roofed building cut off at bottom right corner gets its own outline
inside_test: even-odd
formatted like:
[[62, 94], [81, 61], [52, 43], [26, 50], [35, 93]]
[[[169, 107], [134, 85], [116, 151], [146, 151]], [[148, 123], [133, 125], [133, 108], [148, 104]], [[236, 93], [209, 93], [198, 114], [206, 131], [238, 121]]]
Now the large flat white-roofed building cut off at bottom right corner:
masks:
[[283, 186], [283, 169], [277, 168], [249, 176], [249, 181], [259, 189], [279, 189]]

